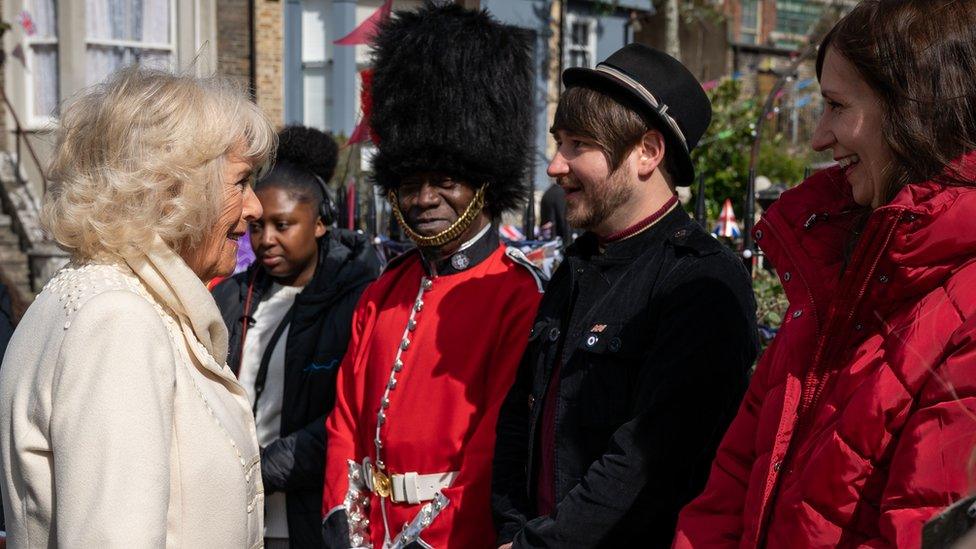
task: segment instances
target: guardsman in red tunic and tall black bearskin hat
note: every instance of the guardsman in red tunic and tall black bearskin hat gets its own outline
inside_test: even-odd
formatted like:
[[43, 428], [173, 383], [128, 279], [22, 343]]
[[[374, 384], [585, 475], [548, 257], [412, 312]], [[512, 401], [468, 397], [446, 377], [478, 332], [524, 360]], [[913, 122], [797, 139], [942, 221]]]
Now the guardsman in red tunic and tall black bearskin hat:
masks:
[[417, 249], [353, 315], [323, 534], [329, 547], [493, 547], [495, 425], [542, 291], [492, 226], [526, 194], [528, 42], [484, 12], [428, 4], [381, 25], [374, 47], [376, 182]]

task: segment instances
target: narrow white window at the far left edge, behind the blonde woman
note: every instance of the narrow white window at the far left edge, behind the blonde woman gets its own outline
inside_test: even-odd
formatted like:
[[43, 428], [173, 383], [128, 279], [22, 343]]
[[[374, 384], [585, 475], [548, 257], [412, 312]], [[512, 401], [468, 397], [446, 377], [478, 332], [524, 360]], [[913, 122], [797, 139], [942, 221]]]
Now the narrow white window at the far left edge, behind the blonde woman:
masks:
[[[28, 13], [34, 24], [34, 35], [25, 38], [25, 65], [28, 67], [27, 109], [32, 125], [43, 124], [57, 116], [58, 89], [58, 16], [55, 0], [31, 0]], [[26, 34], [26, 33], [25, 33]]]

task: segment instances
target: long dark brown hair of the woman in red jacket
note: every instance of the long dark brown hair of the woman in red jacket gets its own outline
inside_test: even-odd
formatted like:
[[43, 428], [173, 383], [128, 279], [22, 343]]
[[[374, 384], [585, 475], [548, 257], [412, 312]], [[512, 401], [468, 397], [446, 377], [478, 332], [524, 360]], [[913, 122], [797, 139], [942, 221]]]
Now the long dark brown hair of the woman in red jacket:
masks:
[[976, 0], [864, 0], [821, 42], [818, 79], [828, 48], [881, 99], [886, 203], [909, 183], [973, 185], [951, 163], [976, 149]]

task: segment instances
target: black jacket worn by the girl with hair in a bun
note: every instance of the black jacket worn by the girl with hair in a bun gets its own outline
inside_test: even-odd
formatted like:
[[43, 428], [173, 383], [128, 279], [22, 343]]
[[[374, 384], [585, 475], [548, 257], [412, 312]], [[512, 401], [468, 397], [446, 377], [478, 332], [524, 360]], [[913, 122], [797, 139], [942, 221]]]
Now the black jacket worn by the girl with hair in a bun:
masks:
[[[349, 344], [353, 309], [379, 270], [366, 236], [333, 229], [319, 239], [315, 274], [288, 312], [281, 438], [261, 450], [261, 474], [265, 491], [288, 493], [292, 547], [322, 544], [325, 417], [335, 404], [335, 379]], [[252, 278], [253, 314], [272, 282], [260, 265], [252, 265], [213, 291], [230, 336], [227, 363], [235, 372], [240, 366], [241, 319]], [[265, 353], [263, 361], [270, 355]]]

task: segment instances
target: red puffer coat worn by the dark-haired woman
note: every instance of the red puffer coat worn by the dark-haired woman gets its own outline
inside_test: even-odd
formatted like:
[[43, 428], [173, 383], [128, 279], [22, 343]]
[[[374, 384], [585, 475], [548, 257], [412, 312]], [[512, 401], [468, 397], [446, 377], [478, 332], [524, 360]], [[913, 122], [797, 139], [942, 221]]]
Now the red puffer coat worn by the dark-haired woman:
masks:
[[790, 308], [675, 547], [918, 547], [971, 490], [976, 188], [902, 189], [841, 277], [858, 211], [832, 169], [757, 224]]

